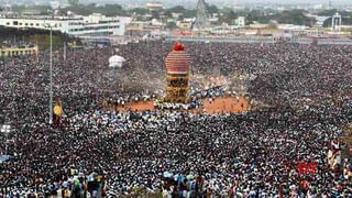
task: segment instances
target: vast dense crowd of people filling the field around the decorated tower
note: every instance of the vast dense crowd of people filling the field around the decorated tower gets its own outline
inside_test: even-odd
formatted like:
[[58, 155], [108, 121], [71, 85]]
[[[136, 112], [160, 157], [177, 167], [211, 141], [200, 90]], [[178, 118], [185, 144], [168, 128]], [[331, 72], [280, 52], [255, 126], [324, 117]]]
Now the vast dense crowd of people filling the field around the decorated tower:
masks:
[[[77, 169], [80, 186], [92, 173], [103, 177], [110, 197], [139, 189], [185, 198], [352, 196], [351, 155], [334, 167], [328, 164], [331, 142], [341, 141], [352, 121], [352, 47], [187, 43], [193, 75], [218, 69], [228, 78], [255, 76], [248, 91], [268, 107], [222, 116], [102, 109], [105, 100], [158, 95], [170, 50], [166, 42], [122, 45], [121, 69], [108, 67], [111, 48], [78, 50], [67, 59], [55, 52], [54, 94], [65, 113], [55, 127], [47, 124], [47, 53], [6, 58], [0, 124], [14, 131], [8, 141], [0, 136], [7, 145], [0, 144], [0, 152], [13, 158], [0, 164], [0, 195], [55, 194], [69, 188], [69, 180], [73, 186], [68, 172]], [[193, 88], [200, 97], [224, 92], [202, 95], [196, 82]], [[298, 173], [300, 162], [317, 163], [317, 172]], [[95, 190], [91, 195], [102, 194]]]

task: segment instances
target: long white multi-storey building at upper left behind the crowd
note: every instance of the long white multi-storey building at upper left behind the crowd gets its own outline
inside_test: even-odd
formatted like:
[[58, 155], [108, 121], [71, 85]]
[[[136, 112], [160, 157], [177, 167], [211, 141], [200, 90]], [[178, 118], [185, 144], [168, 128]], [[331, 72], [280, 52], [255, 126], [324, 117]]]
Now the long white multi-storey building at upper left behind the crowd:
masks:
[[[67, 33], [70, 35], [124, 35], [124, 28], [131, 18], [108, 18], [98, 13], [88, 16], [61, 16], [61, 18], [0, 18], [0, 26], [16, 29], [41, 29]], [[50, 26], [48, 26], [50, 24]]]

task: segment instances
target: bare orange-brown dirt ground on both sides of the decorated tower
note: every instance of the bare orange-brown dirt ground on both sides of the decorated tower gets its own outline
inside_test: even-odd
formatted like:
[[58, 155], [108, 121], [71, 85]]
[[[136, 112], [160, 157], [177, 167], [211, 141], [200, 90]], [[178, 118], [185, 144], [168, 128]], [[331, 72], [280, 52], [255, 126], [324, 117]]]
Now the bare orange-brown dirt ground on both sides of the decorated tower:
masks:
[[[244, 97], [219, 97], [212, 101], [209, 99], [202, 100], [202, 108], [197, 110], [191, 110], [195, 113], [204, 112], [204, 113], [240, 113], [243, 111], [248, 111], [251, 109], [250, 102]], [[153, 101], [139, 101], [127, 103], [124, 107], [119, 106], [117, 108], [118, 111], [147, 111], [154, 110], [154, 102]]]

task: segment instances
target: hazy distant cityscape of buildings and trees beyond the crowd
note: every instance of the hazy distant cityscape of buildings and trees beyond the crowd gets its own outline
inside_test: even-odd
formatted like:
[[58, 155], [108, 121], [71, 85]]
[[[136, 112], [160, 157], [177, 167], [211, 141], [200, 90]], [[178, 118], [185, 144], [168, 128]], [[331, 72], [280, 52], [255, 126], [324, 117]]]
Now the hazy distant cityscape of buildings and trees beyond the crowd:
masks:
[[352, 6], [339, 8], [332, 1], [317, 4], [249, 4], [251, 1], [240, 0], [217, 1], [217, 4], [212, 4], [213, 0], [183, 2], [172, 7], [168, 1], [87, 4], [62, 0], [21, 6], [7, 0], [0, 10], [0, 28], [52, 30], [89, 42], [109, 40], [112, 44], [195, 35], [251, 41], [260, 37], [262, 42], [304, 38], [311, 43], [317, 37], [350, 40], [352, 35]]

